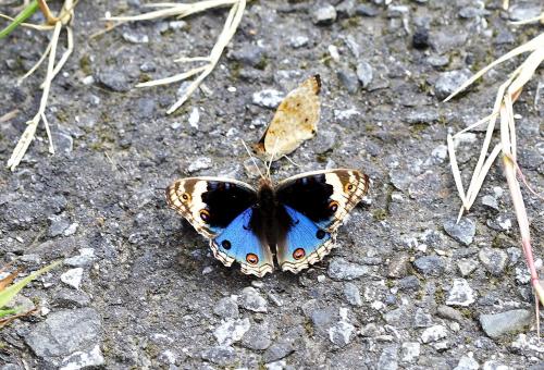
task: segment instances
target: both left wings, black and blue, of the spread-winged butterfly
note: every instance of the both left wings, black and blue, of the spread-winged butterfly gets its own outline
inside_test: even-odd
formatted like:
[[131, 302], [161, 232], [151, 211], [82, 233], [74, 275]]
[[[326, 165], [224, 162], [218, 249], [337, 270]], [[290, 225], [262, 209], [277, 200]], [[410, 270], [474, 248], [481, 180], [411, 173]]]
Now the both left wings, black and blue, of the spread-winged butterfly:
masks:
[[166, 188], [166, 201], [210, 239], [213, 256], [223, 264], [237, 261], [242, 272], [258, 276], [273, 270], [269, 247], [248, 227], [257, 201], [248, 184], [221, 177], [182, 178]]

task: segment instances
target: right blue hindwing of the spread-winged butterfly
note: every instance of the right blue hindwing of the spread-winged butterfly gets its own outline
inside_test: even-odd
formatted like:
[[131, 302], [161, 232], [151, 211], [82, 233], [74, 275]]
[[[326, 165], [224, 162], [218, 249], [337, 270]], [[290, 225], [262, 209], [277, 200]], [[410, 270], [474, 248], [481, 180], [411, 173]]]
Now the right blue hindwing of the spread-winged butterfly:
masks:
[[334, 235], [293, 208], [285, 206], [285, 209], [290, 227], [277, 245], [277, 262], [282, 270], [297, 273], [329, 255], [334, 246]]

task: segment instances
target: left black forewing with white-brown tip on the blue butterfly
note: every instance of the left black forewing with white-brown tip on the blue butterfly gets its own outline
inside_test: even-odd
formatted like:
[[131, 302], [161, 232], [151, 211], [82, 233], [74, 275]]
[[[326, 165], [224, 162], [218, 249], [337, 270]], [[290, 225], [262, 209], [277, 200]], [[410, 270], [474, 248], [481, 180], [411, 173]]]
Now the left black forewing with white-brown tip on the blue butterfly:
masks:
[[166, 188], [169, 206], [207, 238], [221, 233], [256, 200], [251, 186], [222, 177], [182, 178]]

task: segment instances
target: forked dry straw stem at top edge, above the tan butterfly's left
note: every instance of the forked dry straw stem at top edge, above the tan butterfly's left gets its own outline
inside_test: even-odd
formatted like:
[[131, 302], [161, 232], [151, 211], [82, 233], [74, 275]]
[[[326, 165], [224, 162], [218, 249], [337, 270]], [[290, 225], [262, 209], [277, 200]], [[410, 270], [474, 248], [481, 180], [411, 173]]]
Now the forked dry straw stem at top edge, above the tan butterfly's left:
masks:
[[180, 97], [177, 99], [177, 101], [174, 102], [168, 109], [168, 111], [166, 111], [168, 114], [173, 113], [180, 107], [182, 107], [183, 103], [185, 101], [187, 101], [187, 99], [193, 95], [193, 92], [195, 92], [195, 90], [199, 86], [201, 86], [202, 81], [205, 81], [206, 77], [215, 69], [215, 65], [218, 64], [219, 60], [221, 59], [221, 55], [223, 54], [224, 49], [226, 48], [228, 42], [232, 40], [234, 34], [236, 33], [236, 29], [238, 28], [238, 25], [242, 21], [242, 16], [244, 14], [244, 10], [246, 8], [246, 0], [206, 0], [206, 1], [199, 1], [199, 2], [194, 2], [194, 3], [187, 3], [187, 4], [171, 3], [171, 2], [154, 3], [154, 4], [148, 4], [147, 7], [148, 8], [150, 8], [150, 7], [160, 8], [160, 9], [151, 11], [151, 12], [147, 12], [144, 14], [139, 14], [139, 15], [111, 16], [111, 17], [106, 18], [107, 21], [115, 21], [115, 22], [150, 21], [150, 20], [171, 17], [171, 16], [175, 16], [176, 18], [183, 18], [183, 17], [186, 17], [190, 14], [203, 12], [203, 11], [207, 11], [209, 9], [220, 8], [220, 7], [228, 7], [228, 5], [231, 5], [231, 10], [230, 10], [228, 15], [226, 17], [223, 29], [222, 29], [221, 34], [219, 35], [218, 40], [215, 41], [215, 45], [213, 46], [213, 48], [210, 52], [210, 55], [208, 55], [208, 57], [194, 57], [194, 58], [183, 57], [183, 58], [178, 58], [175, 60], [175, 62], [181, 62], [181, 63], [205, 62], [206, 65], [191, 69], [187, 72], [180, 73], [180, 74], [176, 74], [176, 75], [171, 76], [171, 77], [149, 81], [149, 82], [136, 85], [136, 87], [151, 87], [151, 86], [158, 86], [158, 85], [172, 84], [172, 83], [187, 79], [187, 78], [198, 74], [198, 76], [190, 83], [190, 85], [184, 91], [182, 97]]

